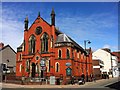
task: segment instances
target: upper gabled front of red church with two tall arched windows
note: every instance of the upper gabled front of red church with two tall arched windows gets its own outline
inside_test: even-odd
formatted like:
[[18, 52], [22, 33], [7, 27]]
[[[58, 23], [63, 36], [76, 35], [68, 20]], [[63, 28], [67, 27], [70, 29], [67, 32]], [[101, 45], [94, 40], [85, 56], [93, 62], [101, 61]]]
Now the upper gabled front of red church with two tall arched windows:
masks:
[[[28, 28], [28, 17], [24, 21], [24, 52], [26, 54], [35, 54], [36, 51], [41, 53], [51, 52], [53, 46], [53, 39], [56, 40], [55, 35], [55, 13], [51, 13], [51, 25], [47, 23], [38, 14], [33, 24]], [[20, 47], [21, 49], [21, 47]]]

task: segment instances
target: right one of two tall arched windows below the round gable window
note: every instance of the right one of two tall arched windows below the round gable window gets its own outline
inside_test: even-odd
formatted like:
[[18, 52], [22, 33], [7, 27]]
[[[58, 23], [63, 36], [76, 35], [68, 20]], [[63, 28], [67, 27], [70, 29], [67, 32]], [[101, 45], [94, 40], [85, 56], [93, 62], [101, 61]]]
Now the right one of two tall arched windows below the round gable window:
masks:
[[48, 52], [48, 34], [44, 33], [41, 37], [41, 52]]

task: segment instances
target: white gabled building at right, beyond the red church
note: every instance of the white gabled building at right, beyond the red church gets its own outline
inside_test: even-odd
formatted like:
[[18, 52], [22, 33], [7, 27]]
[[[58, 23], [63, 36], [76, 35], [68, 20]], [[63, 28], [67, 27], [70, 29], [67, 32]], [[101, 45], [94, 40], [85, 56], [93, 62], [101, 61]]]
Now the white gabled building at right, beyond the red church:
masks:
[[111, 54], [110, 49], [98, 49], [92, 54], [93, 57], [100, 58], [104, 62], [101, 72], [106, 72], [110, 76], [118, 77], [117, 57]]

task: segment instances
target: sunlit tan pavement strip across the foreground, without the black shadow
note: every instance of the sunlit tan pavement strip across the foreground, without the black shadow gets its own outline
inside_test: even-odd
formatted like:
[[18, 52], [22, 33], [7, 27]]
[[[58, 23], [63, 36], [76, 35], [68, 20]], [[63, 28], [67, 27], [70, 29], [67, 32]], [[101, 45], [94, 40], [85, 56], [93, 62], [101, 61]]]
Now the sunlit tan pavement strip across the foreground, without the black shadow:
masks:
[[[117, 78], [100, 79], [96, 82], [86, 82], [84, 85], [20, 85], [13, 83], [0, 83], [0, 88], [103, 88], [105, 85], [111, 84], [113, 81], [117, 81]], [[120, 79], [119, 79], [120, 80]]]

